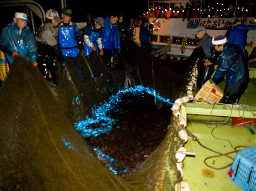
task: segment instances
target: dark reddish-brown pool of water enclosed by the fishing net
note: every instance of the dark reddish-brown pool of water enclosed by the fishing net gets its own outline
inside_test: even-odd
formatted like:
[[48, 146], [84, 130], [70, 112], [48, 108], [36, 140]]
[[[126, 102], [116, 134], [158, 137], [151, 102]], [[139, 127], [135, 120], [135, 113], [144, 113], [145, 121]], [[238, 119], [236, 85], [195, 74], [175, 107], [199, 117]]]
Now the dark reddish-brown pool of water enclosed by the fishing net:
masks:
[[[171, 116], [171, 104], [156, 104], [155, 97], [146, 93], [122, 94], [118, 102], [106, 116], [112, 122], [100, 120], [90, 125], [90, 130], [97, 130], [97, 135], [84, 137], [96, 151], [98, 158], [114, 174], [126, 178], [136, 171], [149, 157], [166, 135]], [[106, 130], [106, 126], [108, 126]], [[103, 132], [99, 132], [99, 129]], [[111, 130], [110, 130], [111, 129]]]

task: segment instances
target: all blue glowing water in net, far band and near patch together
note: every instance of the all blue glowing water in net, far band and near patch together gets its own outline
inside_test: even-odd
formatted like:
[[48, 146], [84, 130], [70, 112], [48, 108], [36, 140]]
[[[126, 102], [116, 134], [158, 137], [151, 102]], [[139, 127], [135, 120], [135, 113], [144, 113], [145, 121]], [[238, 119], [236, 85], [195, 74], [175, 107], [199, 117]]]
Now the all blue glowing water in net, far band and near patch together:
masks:
[[[156, 91], [154, 91], [153, 89], [150, 88], [145, 88], [143, 86], [136, 86], [133, 88], [125, 88], [123, 90], [118, 91], [118, 93], [116, 95], [113, 95], [110, 97], [109, 102], [104, 103], [103, 105], [100, 105], [98, 108], [93, 109], [92, 110], [92, 117], [87, 116], [83, 121], [80, 121], [78, 123], [75, 123], [75, 128], [78, 132], [81, 133], [81, 135], [83, 137], [88, 137], [89, 138], [93, 138], [93, 137], [99, 137], [101, 135], [109, 135], [111, 133], [111, 131], [114, 128], [119, 128], [119, 126], [117, 126], [117, 122], [118, 119], [113, 118], [111, 116], [111, 111], [114, 111], [114, 113], [118, 113], [120, 112], [120, 114], [122, 114], [122, 108], [119, 108], [118, 105], [124, 101], [124, 95], [132, 95], [134, 97], [140, 97], [140, 98], [148, 98], [150, 96], [157, 98], [160, 101], [163, 101], [169, 105], [173, 105], [173, 103], [169, 100], [166, 99], [162, 96], [160, 96], [158, 93], [156, 93]], [[77, 101], [78, 98], [75, 97], [73, 99], [73, 101]], [[79, 100], [78, 100], [79, 101]], [[119, 110], [120, 109], [120, 110]], [[113, 112], [112, 112], [113, 114]], [[99, 127], [98, 127], [98, 126]], [[123, 126], [122, 126], [123, 128]], [[132, 128], [131, 128], [132, 130]], [[133, 129], [134, 130], [134, 129]], [[120, 131], [123, 132], [123, 131]], [[120, 136], [121, 137], [121, 136]], [[119, 138], [120, 138], [119, 137]], [[101, 139], [99, 137], [99, 142], [102, 143], [104, 142], [103, 139]], [[63, 140], [64, 141], [64, 140]], [[120, 140], [120, 146], [124, 146], [124, 140]], [[64, 141], [65, 145], [70, 149], [71, 144], [69, 142]], [[104, 143], [102, 143], [104, 145]], [[97, 145], [97, 144], [96, 144]], [[98, 146], [92, 146], [93, 150], [95, 150], [95, 152], [98, 155], [98, 159], [100, 161], [103, 162], [103, 164], [110, 169], [110, 171], [112, 171], [114, 174], [116, 175], [121, 175], [121, 177], [124, 177], [125, 174], [131, 174], [132, 172], [134, 172], [134, 170], [140, 166], [140, 162], [136, 162], [135, 166], [136, 167], [131, 167], [128, 164], [123, 164], [122, 162], [116, 160], [116, 155], [113, 155], [113, 152], [107, 152], [107, 150], [105, 149], [105, 147], [101, 148]], [[72, 149], [72, 148], [71, 148]], [[111, 148], [110, 148], [111, 150]], [[113, 150], [111, 150], [113, 151]], [[106, 153], [105, 153], [106, 152]], [[109, 155], [109, 154], [111, 155]], [[122, 153], [118, 153], [121, 154]], [[125, 154], [125, 153], [124, 153]], [[143, 155], [143, 153], [140, 153]], [[144, 157], [147, 157], [147, 155], [144, 155]]]

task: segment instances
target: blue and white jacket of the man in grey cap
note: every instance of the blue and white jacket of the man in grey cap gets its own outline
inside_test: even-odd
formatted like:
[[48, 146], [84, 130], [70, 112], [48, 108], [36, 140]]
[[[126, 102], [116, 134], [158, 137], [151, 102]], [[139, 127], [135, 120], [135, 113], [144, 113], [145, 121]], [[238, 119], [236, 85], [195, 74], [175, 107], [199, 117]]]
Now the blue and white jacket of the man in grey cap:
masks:
[[95, 25], [87, 25], [84, 28], [84, 42], [85, 56], [92, 53], [92, 46], [99, 52], [99, 49], [102, 49], [102, 31], [97, 30]]

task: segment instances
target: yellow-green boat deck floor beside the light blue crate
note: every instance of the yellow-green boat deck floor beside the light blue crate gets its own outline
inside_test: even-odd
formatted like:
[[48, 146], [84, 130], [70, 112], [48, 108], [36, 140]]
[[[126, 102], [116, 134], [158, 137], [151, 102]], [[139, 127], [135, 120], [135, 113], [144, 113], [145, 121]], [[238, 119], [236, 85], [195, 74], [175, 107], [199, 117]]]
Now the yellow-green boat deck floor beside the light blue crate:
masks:
[[[225, 82], [220, 83], [219, 87], [224, 89]], [[247, 104], [256, 107], [255, 87], [255, 84], [251, 81], [248, 84], [246, 92], [242, 95], [239, 104]], [[207, 124], [208, 120], [218, 123]], [[210, 118], [210, 116], [207, 115], [188, 114], [186, 129], [196, 135], [201, 144], [220, 153], [234, 151], [233, 147], [236, 146], [256, 146], [256, 135], [252, 135], [247, 129], [248, 126], [255, 128], [255, 123], [232, 126], [231, 119], [225, 123], [227, 120], [228, 117], [212, 116]], [[214, 169], [231, 164], [233, 161], [230, 158], [217, 157], [208, 159], [206, 162], [213, 167], [211, 168], [205, 165], [204, 160], [207, 157], [217, 155], [216, 153], [203, 148], [192, 138], [188, 139], [185, 148], [188, 152], [196, 153], [196, 157], [186, 156], [183, 162], [183, 179], [188, 182], [191, 190], [241, 190], [241, 188], [227, 176], [227, 170], [230, 167]], [[232, 158], [234, 158], [235, 155], [236, 153], [230, 154]]]

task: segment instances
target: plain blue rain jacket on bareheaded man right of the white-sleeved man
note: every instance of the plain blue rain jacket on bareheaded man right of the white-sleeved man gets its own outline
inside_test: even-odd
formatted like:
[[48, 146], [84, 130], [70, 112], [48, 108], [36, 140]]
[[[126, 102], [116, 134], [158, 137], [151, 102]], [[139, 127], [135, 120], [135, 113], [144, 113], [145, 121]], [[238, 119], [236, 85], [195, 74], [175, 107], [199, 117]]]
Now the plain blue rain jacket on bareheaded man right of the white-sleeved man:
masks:
[[104, 19], [104, 27], [102, 28], [102, 45], [105, 49], [121, 49], [120, 36], [117, 24], [110, 23], [110, 17]]

